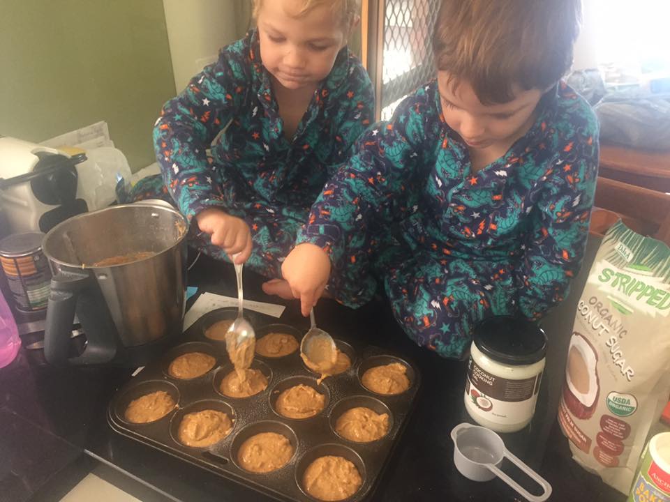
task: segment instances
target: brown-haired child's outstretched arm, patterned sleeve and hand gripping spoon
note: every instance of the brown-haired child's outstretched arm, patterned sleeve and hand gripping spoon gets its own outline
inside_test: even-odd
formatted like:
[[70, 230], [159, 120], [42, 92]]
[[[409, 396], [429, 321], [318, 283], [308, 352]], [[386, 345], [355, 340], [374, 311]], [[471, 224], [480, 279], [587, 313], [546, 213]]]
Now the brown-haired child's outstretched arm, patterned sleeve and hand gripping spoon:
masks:
[[297, 247], [282, 265], [292, 294], [309, 313], [328, 280], [330, 268], [367, 259], [361, 247], [346, 253], [347, 239], [364, 238], [366, 227], [403, 191], [421, 165], [426, 96], [417, 93], [399, 105], [390, 122], [376, 123], [357, 142], [357, 151], [325, 185], [301, 229]]

